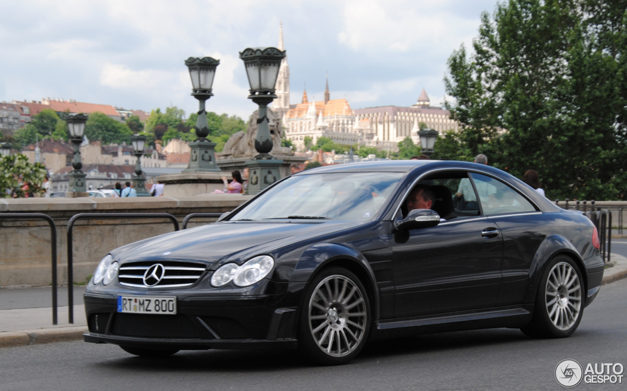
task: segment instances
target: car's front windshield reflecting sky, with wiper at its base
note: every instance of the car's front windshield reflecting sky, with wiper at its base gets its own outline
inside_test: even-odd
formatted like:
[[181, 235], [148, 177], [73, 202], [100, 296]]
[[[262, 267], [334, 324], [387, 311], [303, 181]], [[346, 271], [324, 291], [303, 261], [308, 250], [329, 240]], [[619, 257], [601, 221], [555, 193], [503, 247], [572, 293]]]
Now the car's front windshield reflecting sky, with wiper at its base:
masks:
[[401, 173], [292, 176], [256, 198], [229, 220], [372, 220], [401, 176]]

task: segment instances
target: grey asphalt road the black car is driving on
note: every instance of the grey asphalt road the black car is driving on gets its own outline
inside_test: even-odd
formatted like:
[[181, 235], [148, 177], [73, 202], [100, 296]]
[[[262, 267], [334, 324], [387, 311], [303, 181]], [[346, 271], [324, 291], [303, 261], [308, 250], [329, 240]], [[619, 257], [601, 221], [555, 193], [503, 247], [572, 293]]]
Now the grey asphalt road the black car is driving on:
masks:
[[[152, 360], [80, 341], [0, 350], [0, 390], [561, 390], [561, 360], [627, 367], [627, 280], [603, 286], [571, 338], [517, 329], [416, 336], [366, 346], [342, 367], [285, 351], [181, 351]], [[625, 373], [627, 375], [627, 372]], [[623, 384], [579, 384], [624, 390]]]

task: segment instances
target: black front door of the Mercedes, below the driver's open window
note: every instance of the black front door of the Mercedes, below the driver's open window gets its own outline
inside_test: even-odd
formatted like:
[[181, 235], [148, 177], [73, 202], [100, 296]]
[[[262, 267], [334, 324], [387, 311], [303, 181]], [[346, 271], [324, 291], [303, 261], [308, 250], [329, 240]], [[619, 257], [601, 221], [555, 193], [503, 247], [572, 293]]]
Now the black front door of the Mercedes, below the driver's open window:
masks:
[[[463, 180], [458, 173], [448, 179], [439, 174], [453, 194]], [[463, 174], [469, 181], [468, 173]], [[429, 178], [421, 183], [438, 185]], [[496, 223], [479, 211], [475, 216], [455, 212], [457, 218], [436, 227], [391, 235], [398, 318], [494, 306], [501, 279], [502, 235]]]

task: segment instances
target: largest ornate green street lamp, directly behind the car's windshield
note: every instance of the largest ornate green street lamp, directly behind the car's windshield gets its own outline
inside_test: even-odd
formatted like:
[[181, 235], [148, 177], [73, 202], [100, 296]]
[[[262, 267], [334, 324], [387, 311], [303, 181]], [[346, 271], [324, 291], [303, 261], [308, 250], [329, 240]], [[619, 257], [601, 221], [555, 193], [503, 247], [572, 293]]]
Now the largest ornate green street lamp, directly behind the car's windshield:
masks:
[[267, 114], [268, 104], [277, 98], [275, 85], [281, 60], [285, 58], [285, 51], [271, 47], [246, 48], [240, 52], [240, 58], [244, 61], [250, 84], [248, 99], [259, 105], [255, 138], [255, 149], [258, 155], [246, 162], [246, 166], [250, 169], [248, 194], [256, 194], [281, 178], [279, 167], [283, 161], [276, 160], [270, 155], [273, 144]]

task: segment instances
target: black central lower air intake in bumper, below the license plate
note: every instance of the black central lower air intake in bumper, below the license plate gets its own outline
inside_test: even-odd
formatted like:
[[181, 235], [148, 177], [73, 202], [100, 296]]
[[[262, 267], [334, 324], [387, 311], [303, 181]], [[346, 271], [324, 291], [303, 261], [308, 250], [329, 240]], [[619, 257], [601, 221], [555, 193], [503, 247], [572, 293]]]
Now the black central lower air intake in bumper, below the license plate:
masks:
[[113, 335], [147, 338], [200, 338], [201, 335], [187, 316], [117, 314], [111, 328]]

